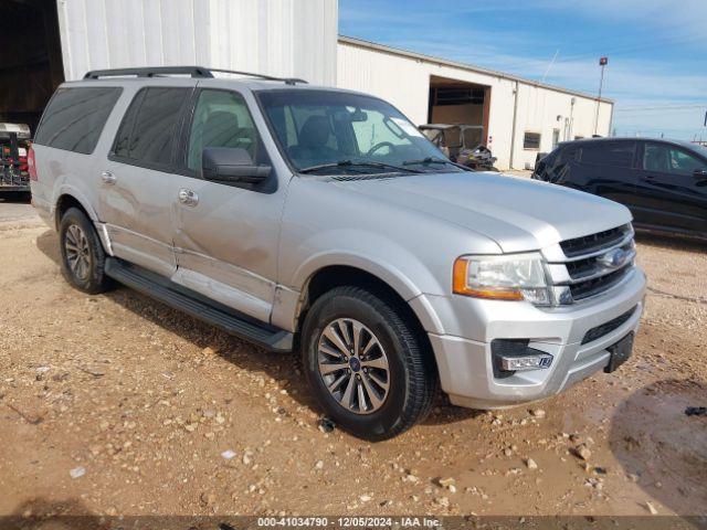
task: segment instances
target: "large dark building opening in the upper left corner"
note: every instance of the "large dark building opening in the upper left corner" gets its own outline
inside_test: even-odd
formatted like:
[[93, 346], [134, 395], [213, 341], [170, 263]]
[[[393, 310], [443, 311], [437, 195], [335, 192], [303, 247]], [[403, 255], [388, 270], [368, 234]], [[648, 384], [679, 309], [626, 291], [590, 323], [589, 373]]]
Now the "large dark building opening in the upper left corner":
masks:
[[33, 137], [64, 81], [56, 1], [4, 0], [0, 50], [0, 123], [25, 124]]

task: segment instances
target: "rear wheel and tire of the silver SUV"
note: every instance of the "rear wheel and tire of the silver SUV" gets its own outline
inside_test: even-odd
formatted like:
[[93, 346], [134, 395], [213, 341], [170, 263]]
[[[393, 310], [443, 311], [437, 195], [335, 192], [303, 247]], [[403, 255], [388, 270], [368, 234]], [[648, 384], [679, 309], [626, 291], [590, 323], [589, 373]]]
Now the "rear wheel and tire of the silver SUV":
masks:
[[59, 226], [59, 246], [64, 278], [84, 293], [97, 295], [112, 287], [105, 275], [106, 254], [91, 220], [77, 208], [70, 208]]

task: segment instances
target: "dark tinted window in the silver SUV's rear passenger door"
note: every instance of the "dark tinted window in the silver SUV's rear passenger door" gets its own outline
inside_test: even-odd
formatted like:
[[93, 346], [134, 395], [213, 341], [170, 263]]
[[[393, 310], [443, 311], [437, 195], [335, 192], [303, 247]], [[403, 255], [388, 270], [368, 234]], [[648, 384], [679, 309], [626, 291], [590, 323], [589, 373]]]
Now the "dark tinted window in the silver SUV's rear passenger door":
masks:
[[169, 166], [179, 118], [191, 88], [143, 88], [130, 104], [116, 135], [116, 157], [140, 163]]

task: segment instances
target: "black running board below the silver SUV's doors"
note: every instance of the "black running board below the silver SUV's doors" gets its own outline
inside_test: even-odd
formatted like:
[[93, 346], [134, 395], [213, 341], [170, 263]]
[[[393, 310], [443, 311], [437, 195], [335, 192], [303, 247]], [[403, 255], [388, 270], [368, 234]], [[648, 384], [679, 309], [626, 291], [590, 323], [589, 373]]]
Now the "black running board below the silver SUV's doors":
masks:
[[293, 333], [242, 315], [155, 273], [106, 257], [106, 275], [159, 301], [271, 351], [292, 351]]

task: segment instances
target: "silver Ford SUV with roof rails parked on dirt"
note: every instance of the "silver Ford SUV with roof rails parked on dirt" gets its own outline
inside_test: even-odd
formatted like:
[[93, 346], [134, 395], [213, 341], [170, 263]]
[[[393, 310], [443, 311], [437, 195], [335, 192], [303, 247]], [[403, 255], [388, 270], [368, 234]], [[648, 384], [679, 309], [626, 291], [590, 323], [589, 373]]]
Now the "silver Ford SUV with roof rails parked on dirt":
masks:
[[33, 203], [80, 290], [117, 280], [270, 350], [369, 439], [557, 394], [631, 354], [629, 211], [468, 172], [390, 104], [203, 67], [64, 83]]

